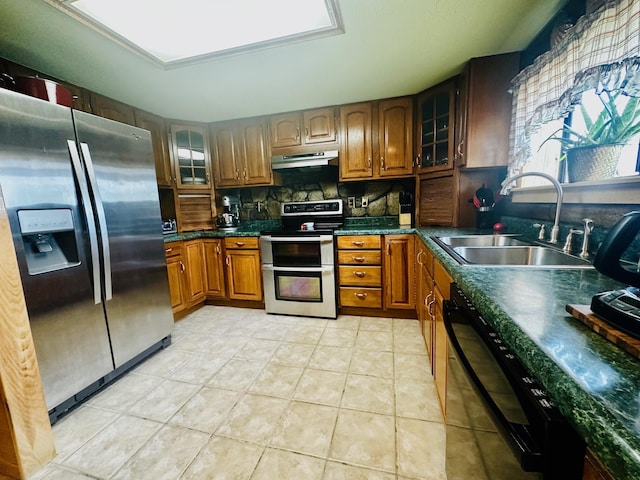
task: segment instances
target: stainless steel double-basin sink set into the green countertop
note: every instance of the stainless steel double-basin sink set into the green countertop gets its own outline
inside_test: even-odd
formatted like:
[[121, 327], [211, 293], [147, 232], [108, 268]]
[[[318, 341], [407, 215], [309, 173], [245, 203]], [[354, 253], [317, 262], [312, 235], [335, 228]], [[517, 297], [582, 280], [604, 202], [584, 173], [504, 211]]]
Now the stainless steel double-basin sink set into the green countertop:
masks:
[[431, 237], [458, 263], [483, 267], [593, 268], [556, 248], [531, 245], [515, 235]]

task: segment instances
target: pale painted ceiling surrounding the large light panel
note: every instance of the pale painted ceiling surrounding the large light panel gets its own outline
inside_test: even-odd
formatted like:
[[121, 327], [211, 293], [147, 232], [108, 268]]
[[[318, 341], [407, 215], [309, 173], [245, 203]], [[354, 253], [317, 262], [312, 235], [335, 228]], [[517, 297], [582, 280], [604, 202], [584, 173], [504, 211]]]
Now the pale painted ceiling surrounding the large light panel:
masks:
[[336, 3], [342, 35], [162, 69], [43, 0], [0, 0], [0, 57], [165, 118], [212, 122], [417, 93], [469, 58], [522, 50], [565, 0]]

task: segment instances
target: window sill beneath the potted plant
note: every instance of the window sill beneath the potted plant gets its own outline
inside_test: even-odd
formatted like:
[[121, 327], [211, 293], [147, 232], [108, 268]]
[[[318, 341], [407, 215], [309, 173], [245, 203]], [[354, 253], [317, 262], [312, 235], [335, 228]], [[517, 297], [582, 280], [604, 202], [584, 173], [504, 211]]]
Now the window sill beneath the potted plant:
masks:
[[[564, 203], [640, 204], [640, 176], [613, 178], [604, 182], [563, 183]], [[514, 203], [555, 203], [553, 185], [520, 187], [511, 190]]]

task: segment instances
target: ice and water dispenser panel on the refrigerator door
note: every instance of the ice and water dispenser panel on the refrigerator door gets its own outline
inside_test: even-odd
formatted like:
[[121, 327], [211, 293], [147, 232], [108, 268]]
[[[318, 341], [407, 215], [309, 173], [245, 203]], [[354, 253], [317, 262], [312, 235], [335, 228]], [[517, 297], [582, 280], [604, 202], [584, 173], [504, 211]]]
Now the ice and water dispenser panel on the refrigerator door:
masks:
[[18, 221], [29, 275], [80, 264], [70, 209], [19, 210]]

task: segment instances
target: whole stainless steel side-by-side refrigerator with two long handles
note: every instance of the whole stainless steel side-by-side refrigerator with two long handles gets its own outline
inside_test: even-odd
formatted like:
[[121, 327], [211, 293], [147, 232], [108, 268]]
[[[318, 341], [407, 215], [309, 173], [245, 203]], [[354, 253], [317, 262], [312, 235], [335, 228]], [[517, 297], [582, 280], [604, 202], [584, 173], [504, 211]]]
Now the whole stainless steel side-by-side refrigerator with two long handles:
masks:
[[150, 134], [0, 90], [0, 187], [55, 422], [170, 343]]

